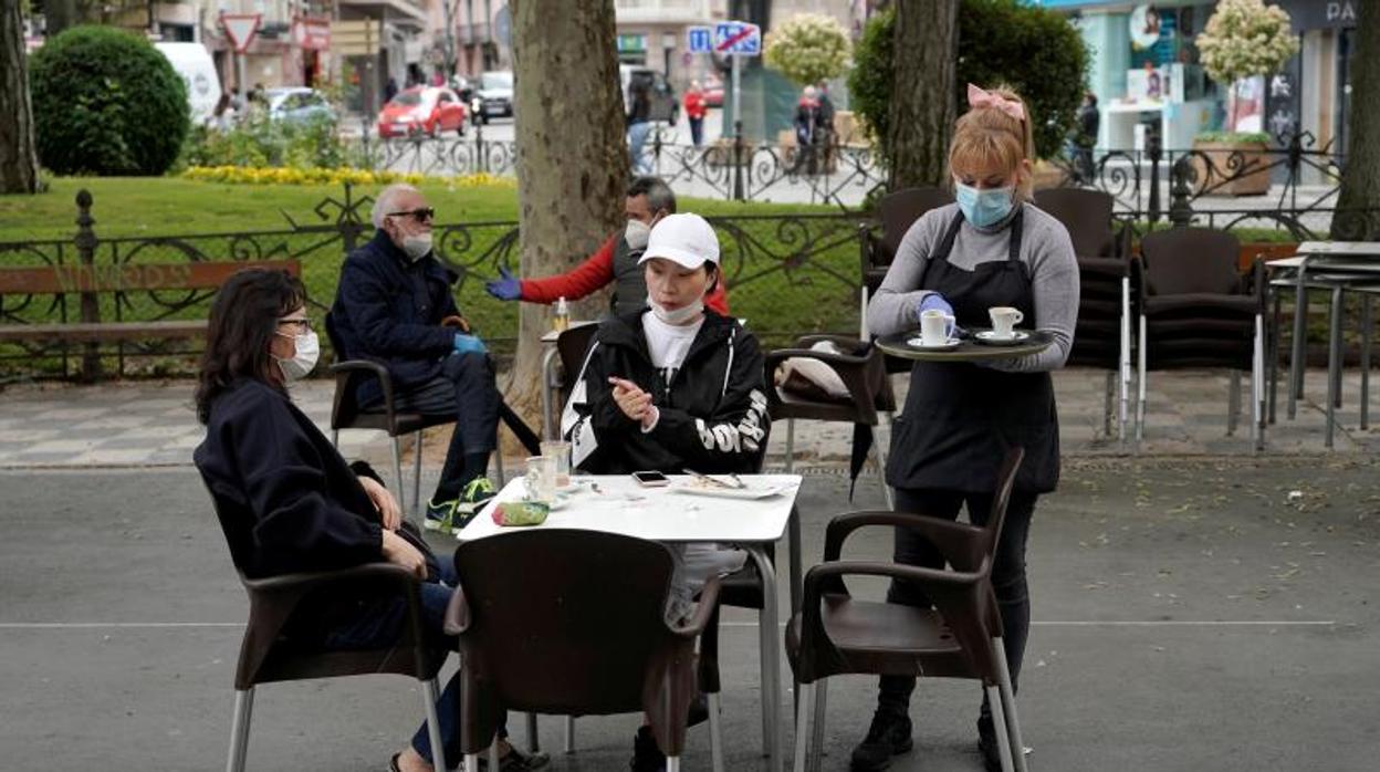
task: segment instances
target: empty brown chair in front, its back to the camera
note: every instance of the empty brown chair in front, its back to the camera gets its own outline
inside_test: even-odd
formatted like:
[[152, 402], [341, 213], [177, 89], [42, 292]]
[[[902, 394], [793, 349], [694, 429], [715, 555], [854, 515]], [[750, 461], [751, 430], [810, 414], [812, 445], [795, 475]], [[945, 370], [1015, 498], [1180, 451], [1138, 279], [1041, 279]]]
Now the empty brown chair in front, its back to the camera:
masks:
[[[696, 638], [718, 602], [711, 579], [691, 619], [665, 621], [671, 552], [614, 533], [540, 529], [455, 548], [460, 590], [446, 610], [458, 635], [465, 769], [508, 710], [555, 715], [643, 713], [667, 769], [679, 769], [696, 693]], [[718, 695], [709, 695], [715, 758]]]

